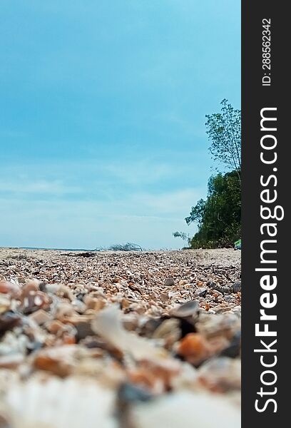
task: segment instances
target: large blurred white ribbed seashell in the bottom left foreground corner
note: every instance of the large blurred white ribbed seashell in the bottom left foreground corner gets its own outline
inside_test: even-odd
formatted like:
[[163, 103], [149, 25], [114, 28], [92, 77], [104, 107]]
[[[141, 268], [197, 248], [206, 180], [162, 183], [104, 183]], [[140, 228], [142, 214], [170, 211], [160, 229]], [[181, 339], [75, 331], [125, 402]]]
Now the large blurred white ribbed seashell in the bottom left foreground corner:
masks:
[[4, 396], [13, 428], [114, 428], [115, 394], [86, 377], [36, 375], [10, 382]]

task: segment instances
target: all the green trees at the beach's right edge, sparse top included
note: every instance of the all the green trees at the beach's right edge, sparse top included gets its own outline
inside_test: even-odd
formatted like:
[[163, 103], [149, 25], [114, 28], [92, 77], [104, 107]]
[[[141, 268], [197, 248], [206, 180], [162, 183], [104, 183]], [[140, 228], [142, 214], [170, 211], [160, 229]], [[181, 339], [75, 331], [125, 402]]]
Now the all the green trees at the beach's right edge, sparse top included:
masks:
[[198, 225], [198, 232], [193, 237], [185, 232], [173, 235], [188, 241], [190, 248], [230, 247], [241, 237], [241, 113], [223, 100], [220, 113], [206, 118], [210, 154], [230, 172], [210, 177], [206, 200], [198, 200], [185, 218], [188, 225]]

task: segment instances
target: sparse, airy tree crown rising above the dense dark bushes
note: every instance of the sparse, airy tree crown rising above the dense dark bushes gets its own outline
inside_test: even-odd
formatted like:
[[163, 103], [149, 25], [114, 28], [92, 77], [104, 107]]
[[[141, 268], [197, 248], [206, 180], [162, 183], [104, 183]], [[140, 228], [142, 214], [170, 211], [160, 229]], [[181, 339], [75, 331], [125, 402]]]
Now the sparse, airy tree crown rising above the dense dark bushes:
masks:
[[205, 123], [211, 141], [210, 153], [229, 170], [235, 170], [240, 180], [241, 169], [241, 112], [228, 100], [221, 101], [221, 113], [206, 115]]

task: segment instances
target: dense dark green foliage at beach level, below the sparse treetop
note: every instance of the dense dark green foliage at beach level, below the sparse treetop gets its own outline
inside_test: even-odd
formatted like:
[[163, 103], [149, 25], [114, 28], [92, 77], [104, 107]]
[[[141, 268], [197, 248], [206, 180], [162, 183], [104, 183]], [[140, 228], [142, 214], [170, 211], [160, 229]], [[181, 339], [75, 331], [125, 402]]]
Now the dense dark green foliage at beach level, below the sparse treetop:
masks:
[[185, 218], [196, 223], [198, 233], [190, 239], [191, 248], [233, 246], [240, 238], [240, 180], [237, 171], [210, 177], [208, 196], [200, 199]]

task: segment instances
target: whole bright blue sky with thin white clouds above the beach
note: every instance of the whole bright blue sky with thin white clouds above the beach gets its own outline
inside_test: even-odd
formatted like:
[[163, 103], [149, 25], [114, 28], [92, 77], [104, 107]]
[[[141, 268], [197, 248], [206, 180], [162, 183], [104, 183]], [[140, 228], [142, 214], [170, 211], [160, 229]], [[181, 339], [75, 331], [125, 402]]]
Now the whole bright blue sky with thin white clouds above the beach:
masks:
[[1, 0], [0, 245], [179, 248], [240, 108], [238, 0]]

